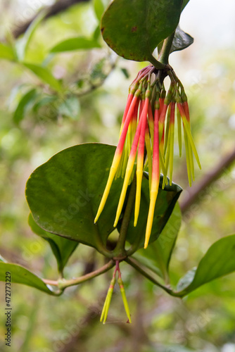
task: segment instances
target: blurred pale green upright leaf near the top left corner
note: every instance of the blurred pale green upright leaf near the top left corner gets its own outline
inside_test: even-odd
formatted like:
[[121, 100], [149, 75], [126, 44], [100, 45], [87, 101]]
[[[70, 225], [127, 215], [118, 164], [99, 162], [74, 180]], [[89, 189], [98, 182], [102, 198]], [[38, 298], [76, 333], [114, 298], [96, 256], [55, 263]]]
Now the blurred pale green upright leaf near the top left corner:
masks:
[[30, 44], [32, 36], [35, 30], [37, 30], [37, 27], [39, 26], [39, 24], [44, 19], [45, 15], [46, 15], [46, 11], [41, 11], [39, 15], [37, 15], [37, 17], [34, 18], [30, 26], [27, 28], [23, 37], [18, 39], [18, 41], [16, 42], [15, 49], [16, 49], [19, 61], [23, 61], [25, 59], [25, 54], [27, 52], [27, 48]]

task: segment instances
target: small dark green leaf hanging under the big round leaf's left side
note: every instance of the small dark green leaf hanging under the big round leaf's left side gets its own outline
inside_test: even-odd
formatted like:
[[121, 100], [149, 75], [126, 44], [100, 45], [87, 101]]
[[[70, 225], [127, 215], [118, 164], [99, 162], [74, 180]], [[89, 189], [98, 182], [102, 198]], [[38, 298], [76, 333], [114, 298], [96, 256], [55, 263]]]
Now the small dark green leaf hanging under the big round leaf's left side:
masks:
[[53, 251], [54, 256], [56, 257], [58, 264], [58, 272], [63, 272], [63, 268], [68, 262], [68, 259], [75, 251], [78, 243], [75, 241], [70, 241], [69, 239], [65, 239], [61, 236], [56, 236], [56, 234], [51, 234], [50, 232], [46, 232], [42, 230], [39, 225], [34, 222], [32, 218], [32, 214], [29, 216], [29, 225], [32, 231], [49, 242], [51, 246], [51, 250]]

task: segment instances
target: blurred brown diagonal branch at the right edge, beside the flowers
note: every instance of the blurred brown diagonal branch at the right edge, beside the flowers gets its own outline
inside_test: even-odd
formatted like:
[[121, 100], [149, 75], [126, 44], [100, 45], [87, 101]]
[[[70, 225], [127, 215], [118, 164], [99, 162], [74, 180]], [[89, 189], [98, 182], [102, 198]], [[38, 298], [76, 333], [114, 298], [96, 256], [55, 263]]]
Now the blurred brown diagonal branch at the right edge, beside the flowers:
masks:
[[201, 192], [205, 192], [205, 190], [210, 186], [210, 184], [215, 182], [227, 170], [227, 168], [229, 168], [229, 166], [234, 163], [234, 161], [235, 149], [230, 154], [222, 158], [220, 163], [218, 163], [215, 168], [208, 172], [203, 177], [203, 179], [198, 182], [198, 184], [195, 184], [195, 186], [187, 189], [187, 198], [179, 204], [182, 210], [182, 214], [184, 214], [193, 203], [198, 201]]

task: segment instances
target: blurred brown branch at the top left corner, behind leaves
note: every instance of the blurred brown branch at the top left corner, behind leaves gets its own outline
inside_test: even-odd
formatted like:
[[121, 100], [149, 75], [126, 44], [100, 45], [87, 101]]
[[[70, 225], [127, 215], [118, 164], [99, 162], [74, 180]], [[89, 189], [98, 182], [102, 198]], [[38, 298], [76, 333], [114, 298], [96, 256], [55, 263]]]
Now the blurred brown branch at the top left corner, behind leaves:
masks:
[[[89, 0], [58, 0], [56, 1], [55, 4], [48, 6], [48, 11], [44, 19], [57, 15], [58, 13], [65, 11], [67, 8], [70, 8], [70, 6], [80, 4], [81, 2], [87, 2], [87, 1]], [[13, 30], [13, 37], [18, 38], [20, 37], [21, 34], [25, 33], [25, 31], [27, 30], [27, 28], [30, 26], [30, 24], [32, 23], [32, 21], [37, 15], [38, 13], [34, 15], [34, 17], [31, 18], [30, 20], [27, 20], [27, 22], [23, 23], [23, 25], [20, 25], [17, 28], [15, 28], [15, 30]]]

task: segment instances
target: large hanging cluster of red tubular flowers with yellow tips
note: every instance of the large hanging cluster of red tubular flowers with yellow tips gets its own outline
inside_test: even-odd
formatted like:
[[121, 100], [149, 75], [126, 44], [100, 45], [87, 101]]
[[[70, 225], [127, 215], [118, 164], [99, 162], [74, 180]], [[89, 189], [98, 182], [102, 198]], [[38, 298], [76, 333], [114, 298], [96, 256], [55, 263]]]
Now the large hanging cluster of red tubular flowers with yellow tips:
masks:
[[155, 202], [158, 196], [160, 172], [163, 173], [163, 189], [172, 184], [174, 156], [174, 120], [177, 118], [179, 156], [182, 155], [182, 127], [186, 149], [186, 164], [189, 178], [194, 180], [193, 154], [199, 168], [193, 137], [191, 135], [189, 106], [184, 87], [172, 68], [167, 70], [170, 87], [165, 91], [163, 71], [148, 65], [139, 71], [129, 87], [127, 105], [122, 118], [120, 139], [110, 168], [106, 188], [94, 222], [99, 219], [106, 204], [112, 182], [117, 177], [124, 178], [114, 227], [117, 226], [127, 193], [136, 172], [136, 200], [134, 208], [134, 226], [137, 225], [141, 201], [141, 182], [143, 170], [148, 169], [150, 205], [146, 225], [144, 248], [148, 246], [153, 225]]

